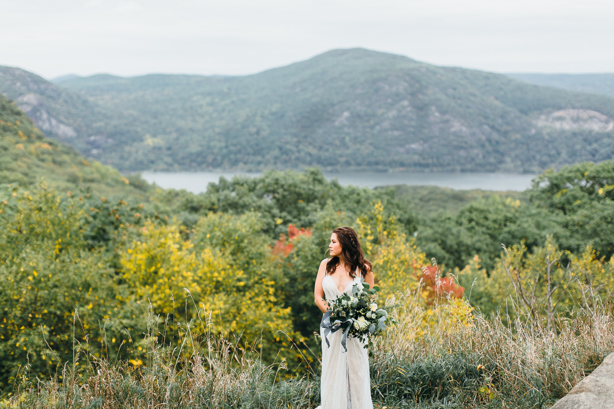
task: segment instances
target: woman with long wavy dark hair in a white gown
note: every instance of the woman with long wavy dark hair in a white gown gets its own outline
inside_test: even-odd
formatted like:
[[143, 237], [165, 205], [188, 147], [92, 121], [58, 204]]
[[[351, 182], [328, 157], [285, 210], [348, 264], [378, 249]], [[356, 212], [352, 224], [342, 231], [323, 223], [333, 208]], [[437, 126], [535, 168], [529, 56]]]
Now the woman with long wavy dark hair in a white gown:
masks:
[[[328, 303], [351, 292], [352, 286], [362, 286], [364, 278], [373, 288], [371, 263], [365, 259], [358, 236], [352, 227], [338, 227], [330, 236], [330, 259], [324, 259], [317, 271], [314, 297], [322, 313]], [[322, 336], [322, 409], [372, 409], [369, 357], [363, 348], [365, 343], [357, 338], [348, 338], [348, 352], [341, 347], [343, 331], [328, 334], [330, 347]]]

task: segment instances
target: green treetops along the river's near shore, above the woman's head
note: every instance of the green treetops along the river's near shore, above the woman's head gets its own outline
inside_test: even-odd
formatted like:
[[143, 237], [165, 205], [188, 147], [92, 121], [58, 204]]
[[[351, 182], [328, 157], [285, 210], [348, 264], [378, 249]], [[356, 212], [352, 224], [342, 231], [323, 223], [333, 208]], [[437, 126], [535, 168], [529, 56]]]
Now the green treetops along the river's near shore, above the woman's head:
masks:
[[241, 215], [258, 212], [262, 217], [262, 229], [271, 238], [285, 234], [288, 224], [298, 227], [316, 226], [321, 221], [320, 212], [325, 209], [333, 213], [347, 213], [349, 220], [356, 220], [358, 215], [370, 212], [376, 201], [384, 204], [386, 217], [394, 214], [406, 232], [413, 232], [417, 222], [411, 208], [395, 199], [394, 188], [373, 191], [356, 186], [341, 186], [335, 180], [328, 182], [322, 171], [316, 168], [305, 172], [268, 170], [254, 178], [235, 176], [227, 180], [220, 177], [220, 182], [210, 183], [205, 193], [192, 194], [167, 189], [154, 197], [155, 201], [165, 204], [171, 209], [170, 212], [178, 215], [179, 220], [184, 221], [188, 227], [195, 223], [193, 216], [190, 216], [195, 213]]

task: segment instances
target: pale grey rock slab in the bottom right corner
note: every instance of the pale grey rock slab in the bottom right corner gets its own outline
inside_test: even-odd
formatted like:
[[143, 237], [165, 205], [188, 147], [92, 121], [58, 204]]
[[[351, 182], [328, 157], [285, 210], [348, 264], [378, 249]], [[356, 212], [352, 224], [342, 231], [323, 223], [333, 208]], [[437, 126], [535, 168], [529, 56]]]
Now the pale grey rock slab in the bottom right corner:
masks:
[[550, 409], [614, 409], [614, 353]]

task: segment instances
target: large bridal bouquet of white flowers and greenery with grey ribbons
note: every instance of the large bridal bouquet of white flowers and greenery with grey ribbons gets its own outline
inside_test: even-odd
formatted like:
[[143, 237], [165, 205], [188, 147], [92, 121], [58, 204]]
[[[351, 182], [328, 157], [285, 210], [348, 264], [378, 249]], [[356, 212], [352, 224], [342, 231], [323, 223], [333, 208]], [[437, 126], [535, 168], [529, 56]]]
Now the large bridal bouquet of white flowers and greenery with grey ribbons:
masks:
[[363, 288], [357, 284], [352, 286], [352, 294], [343, 294], [335, 300], [328, 301], [328, 310], [322, 317], [321, 327], [324, 328], [324, 339], [328, 343], [327, 335], [330, 332], [343, 331], [341, 345], [348, 351], [346, 341], [348, 337], [359, 338], [365, 344], [365, 348], [373, 345], [373, 337], [386, 329], [386, 324], [397, 324], [388, 311], [398, 305], [379, 307], [377, 303], [378, 286], [369, 288], [364, 279], [360, 279]]

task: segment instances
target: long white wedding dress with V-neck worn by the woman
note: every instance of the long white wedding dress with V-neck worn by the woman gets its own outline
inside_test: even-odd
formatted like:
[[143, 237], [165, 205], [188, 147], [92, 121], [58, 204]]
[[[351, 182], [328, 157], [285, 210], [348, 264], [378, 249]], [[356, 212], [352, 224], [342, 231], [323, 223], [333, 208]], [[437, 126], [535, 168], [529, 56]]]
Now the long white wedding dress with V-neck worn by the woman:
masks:
[[[357, 275], [344, 293], [351, 293], [352, 286], [360, 283]], [[330, 275], [322, 280], [322, 288], [327, 300], [340, 297], [341, 293]], [[357, 338], [348, 337], [348, 352], [341, 346], [343, 331], [328, 334], [330, 347], [324, 340], [324, 328], [320, 328], [322, 337], [322, 409], [373, 409], [371, 402], [371, 382], [369, 376], [369, 356], [363, 348], [365, 343]]]

